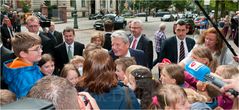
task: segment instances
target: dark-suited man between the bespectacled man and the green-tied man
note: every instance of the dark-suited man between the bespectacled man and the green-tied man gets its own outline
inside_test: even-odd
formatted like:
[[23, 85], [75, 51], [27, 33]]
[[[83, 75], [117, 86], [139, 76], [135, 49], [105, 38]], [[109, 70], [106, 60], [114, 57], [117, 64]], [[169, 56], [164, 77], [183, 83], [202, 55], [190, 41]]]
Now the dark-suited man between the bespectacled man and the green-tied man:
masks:
[[55, 23], [51, 22], [48, 33], [51, 35], [48, 37], [55, 42], [55, 46], [63, 43], [62, 33], [55, 30]]

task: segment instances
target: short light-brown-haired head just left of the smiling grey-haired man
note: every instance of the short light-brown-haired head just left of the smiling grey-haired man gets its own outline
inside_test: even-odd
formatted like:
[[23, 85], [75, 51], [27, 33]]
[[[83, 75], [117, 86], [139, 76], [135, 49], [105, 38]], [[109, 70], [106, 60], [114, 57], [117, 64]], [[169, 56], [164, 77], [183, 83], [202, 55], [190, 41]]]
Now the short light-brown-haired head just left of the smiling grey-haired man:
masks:
[[103, 46], [104, 45], [104, 36], [101, 32], [94, 32], [92, 34], [91, 43], [96, 44], [97, 46]]

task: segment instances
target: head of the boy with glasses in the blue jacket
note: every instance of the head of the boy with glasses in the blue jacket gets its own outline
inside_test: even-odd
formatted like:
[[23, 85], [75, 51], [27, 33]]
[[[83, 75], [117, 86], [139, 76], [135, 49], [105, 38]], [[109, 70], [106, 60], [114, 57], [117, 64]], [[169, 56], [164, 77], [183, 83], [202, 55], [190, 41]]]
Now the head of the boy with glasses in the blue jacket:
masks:
[[12, 38], [12, 48], [17, 57], [30, 62], [41, 59], [42, 46], [38, 35], [30, 32], [20, 32]]

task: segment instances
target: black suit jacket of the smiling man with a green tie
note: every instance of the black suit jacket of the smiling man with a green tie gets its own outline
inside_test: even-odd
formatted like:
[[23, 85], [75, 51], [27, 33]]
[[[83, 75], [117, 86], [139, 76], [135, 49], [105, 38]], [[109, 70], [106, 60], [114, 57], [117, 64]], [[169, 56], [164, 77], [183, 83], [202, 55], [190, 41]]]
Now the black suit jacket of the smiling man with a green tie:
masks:
[[[74, 55], [82, 56], [84, 48], [84, 44], [74, 42]], [[64, 64], [69, 62], [66, 44], [64, 42], [54, 48], [54, 58], [56, 67], [60, 70], [63, 68]]]

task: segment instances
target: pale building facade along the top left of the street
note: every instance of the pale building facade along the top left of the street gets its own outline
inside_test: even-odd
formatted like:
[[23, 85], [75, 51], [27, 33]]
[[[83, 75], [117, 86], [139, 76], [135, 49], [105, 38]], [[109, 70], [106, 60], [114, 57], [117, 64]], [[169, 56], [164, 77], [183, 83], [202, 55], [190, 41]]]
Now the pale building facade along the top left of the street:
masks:
[[30, 6], [30, 11], [40, 11], [45, 1], [50, 2], [51, 6], [65, 6], [68, 17], [71, 17], [71, 12], [75, 10], [76, 4], [77, 15], [79, 17], [85, 17], [100, 11], [104, 13], [115, 13], [117, 0], [1, 0], [1, 6], [7, 4], [13, 10], [22, 11], [23, 5], [28, 5]]

